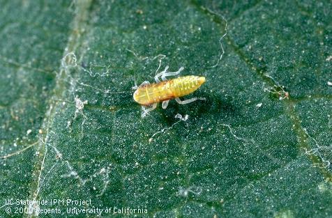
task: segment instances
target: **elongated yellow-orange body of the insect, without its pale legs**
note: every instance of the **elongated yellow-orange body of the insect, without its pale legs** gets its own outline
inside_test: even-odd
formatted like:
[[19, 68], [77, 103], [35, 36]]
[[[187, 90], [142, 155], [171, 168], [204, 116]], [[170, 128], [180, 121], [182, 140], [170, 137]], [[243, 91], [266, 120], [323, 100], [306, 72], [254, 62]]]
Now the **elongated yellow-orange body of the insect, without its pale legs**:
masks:
[[193, 93], [204, 82], [205, 77], [186, 76], [161, 81], [158, 84], [146, 84], [137, 88], [133, 98], [139, 104], [150, 105]]

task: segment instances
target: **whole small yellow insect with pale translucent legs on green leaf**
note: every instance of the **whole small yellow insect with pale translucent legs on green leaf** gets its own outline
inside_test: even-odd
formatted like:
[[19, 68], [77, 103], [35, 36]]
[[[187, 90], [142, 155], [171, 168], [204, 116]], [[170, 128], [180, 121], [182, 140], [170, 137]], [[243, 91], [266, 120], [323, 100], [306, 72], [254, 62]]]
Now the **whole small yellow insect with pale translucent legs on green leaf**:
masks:
[[[176, 72], [167, 72], [168, 68], [169, 66], [154, 77], [156, 83], [150, 84], [149, 81], [144, 81], [135, 91], [133, 98], [135, 102], [142, 105], [143, 115], [156, 109], [158, 102], [163, 102], [162, 107], [166, 109], [171, 99], [175, 99], [179, 104], [188, 104], [195, 102], [195, 100], [206, 100], [205, 98], [195, 97], [188, 100], [181, 100], [179, 98], [196, 91], [197, 88], [204, 84], [205, 77], [186, 76], [167, 80], [166, 77], [179, 75], [183, 70], [183, 67], [181, 67]], [[163, 81], [160, 81], [159, 77]]]

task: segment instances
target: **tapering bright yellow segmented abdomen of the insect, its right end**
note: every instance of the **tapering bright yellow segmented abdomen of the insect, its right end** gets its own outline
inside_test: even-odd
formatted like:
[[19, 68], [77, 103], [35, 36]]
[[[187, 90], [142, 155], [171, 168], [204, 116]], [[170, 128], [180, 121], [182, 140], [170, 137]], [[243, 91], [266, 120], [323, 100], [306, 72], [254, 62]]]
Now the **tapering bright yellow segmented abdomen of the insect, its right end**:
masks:
[[205, 77], [186, 76], [171, 80], [170, 89], [174, 98], [188, 95], [197, 90], [205, 82]]

